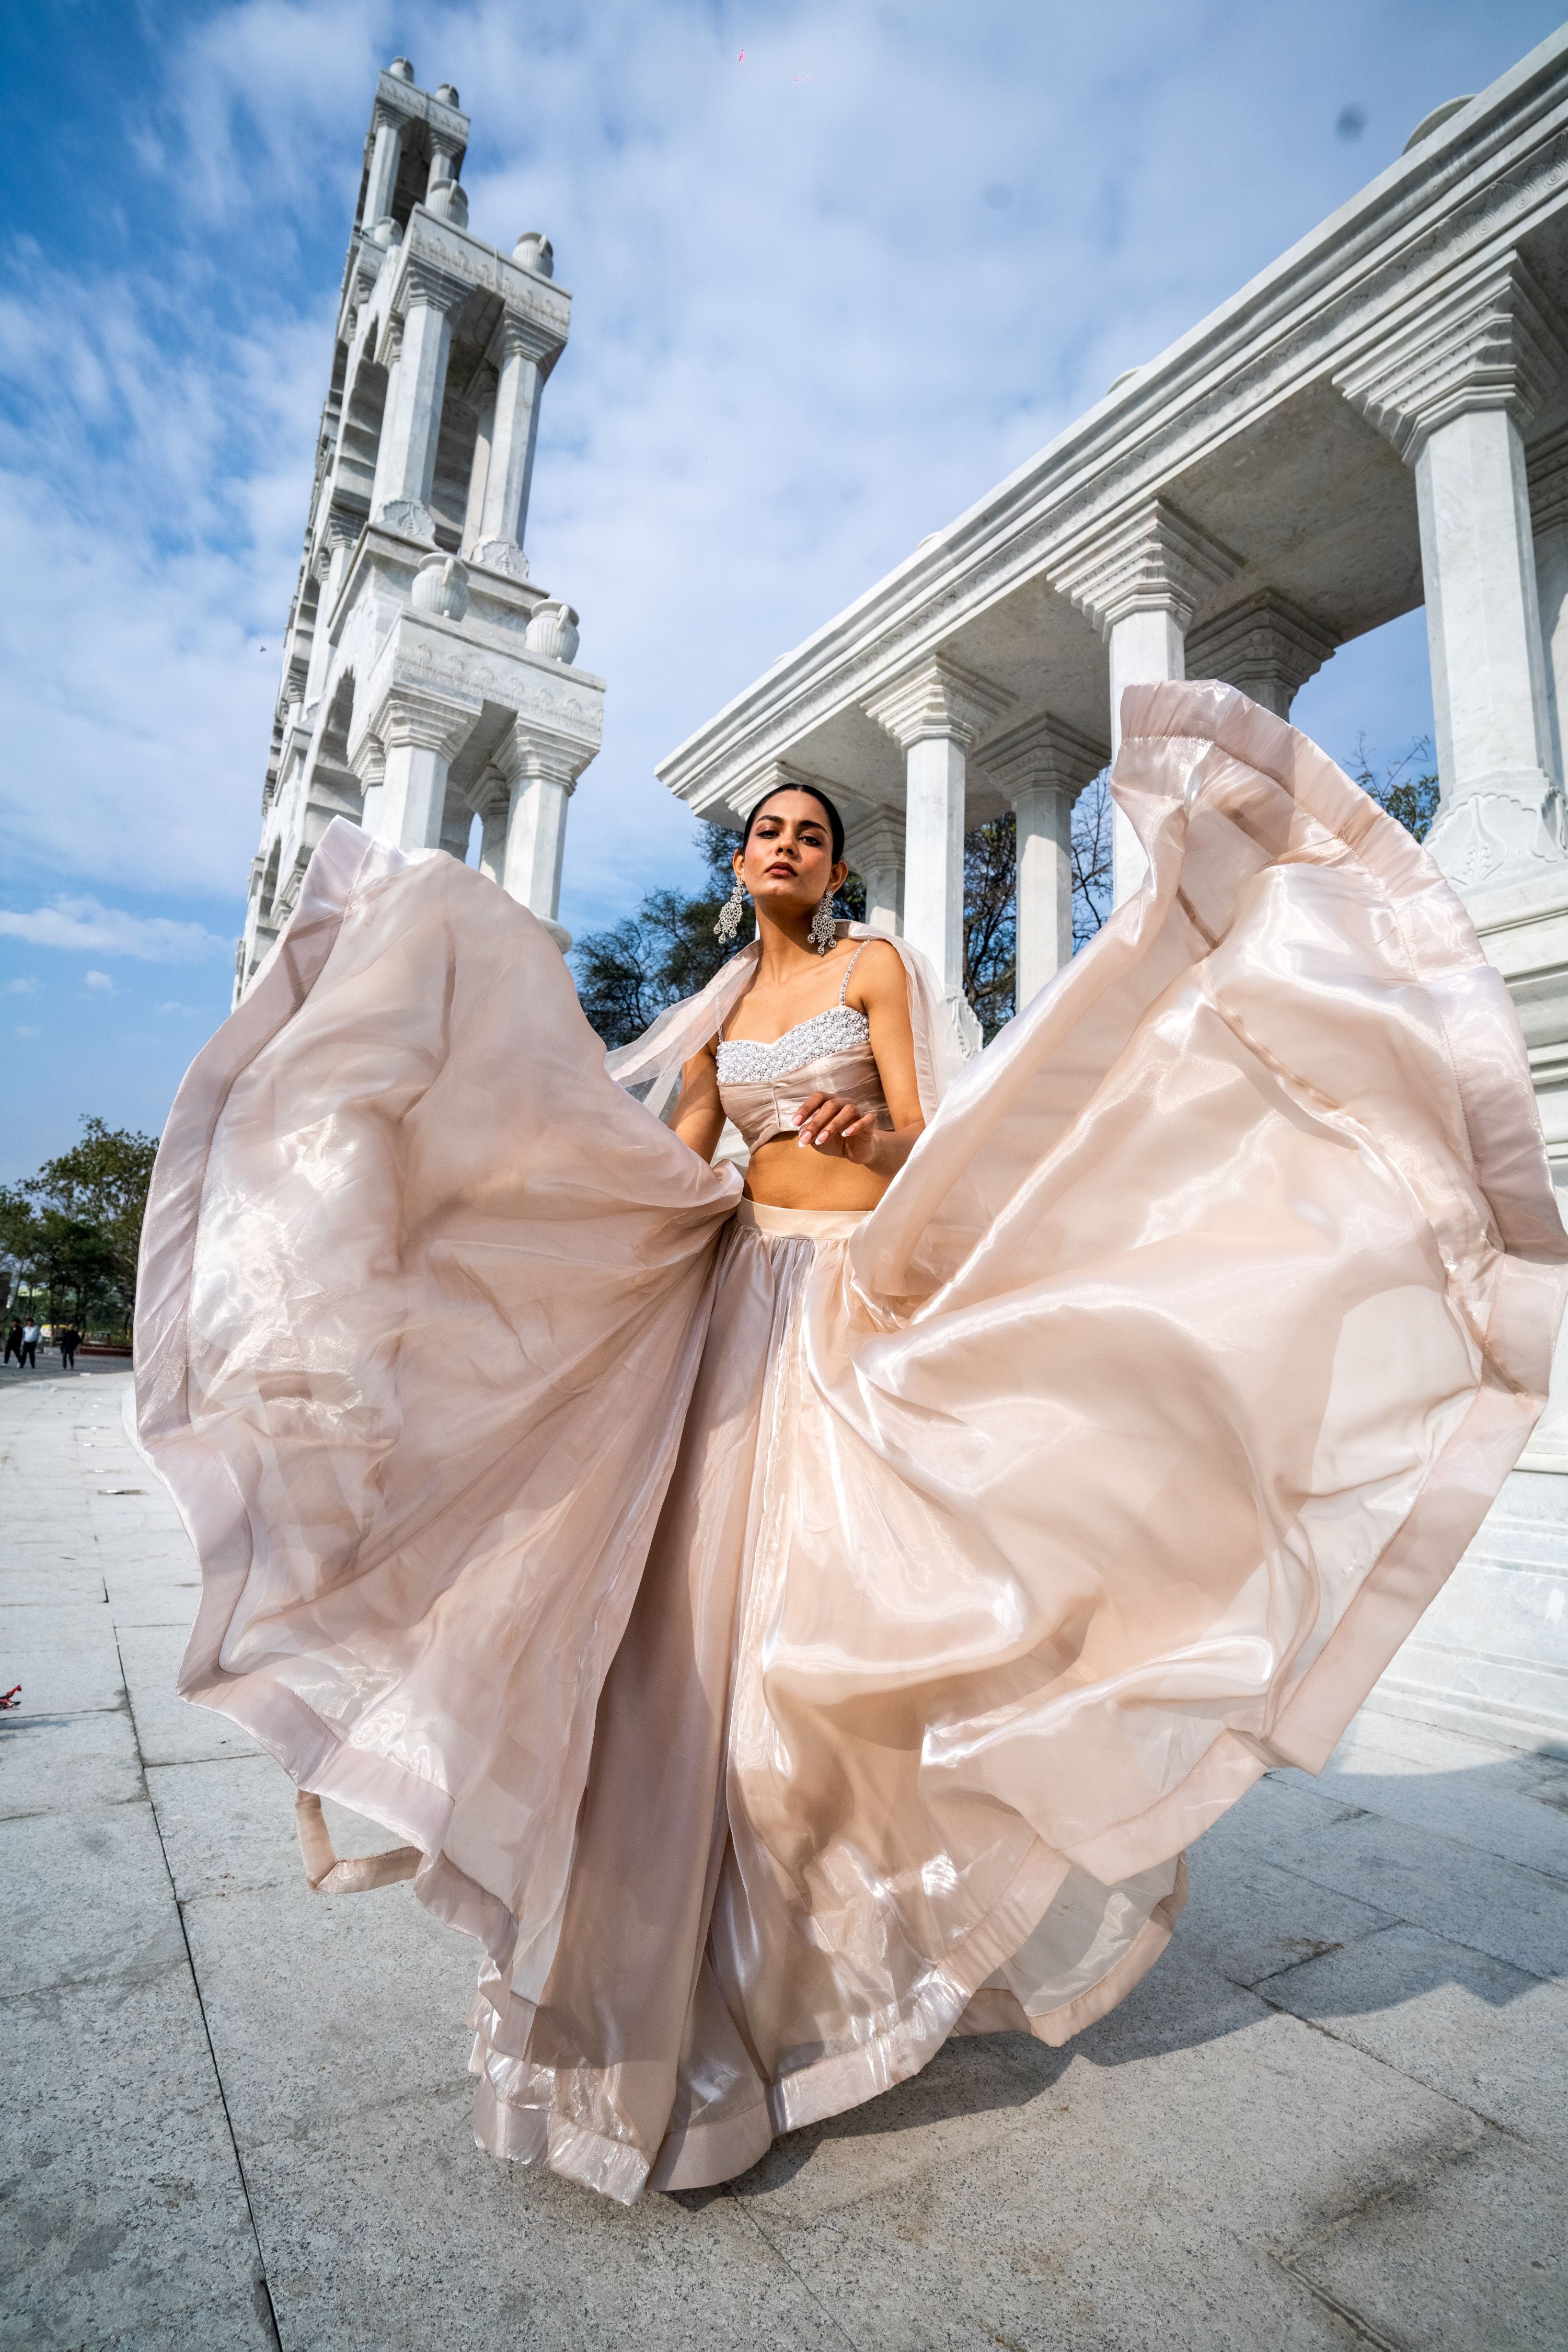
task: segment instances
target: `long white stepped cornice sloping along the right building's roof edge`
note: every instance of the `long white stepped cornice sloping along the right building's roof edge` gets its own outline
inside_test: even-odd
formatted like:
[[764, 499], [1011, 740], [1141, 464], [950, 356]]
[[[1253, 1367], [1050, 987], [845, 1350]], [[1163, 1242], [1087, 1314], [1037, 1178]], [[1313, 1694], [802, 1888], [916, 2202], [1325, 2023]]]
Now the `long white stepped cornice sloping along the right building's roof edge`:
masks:
[[1399, 158], [1039, 456], [672, 750], [658, 776], [726, 800], [769, 753], [863, 703], [1023, 581], [1157, 496], [1253, 416], [1324, 381], [1389, 313], [1514, 245], [1568, 191], [1568, 28]]

